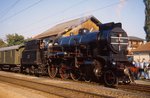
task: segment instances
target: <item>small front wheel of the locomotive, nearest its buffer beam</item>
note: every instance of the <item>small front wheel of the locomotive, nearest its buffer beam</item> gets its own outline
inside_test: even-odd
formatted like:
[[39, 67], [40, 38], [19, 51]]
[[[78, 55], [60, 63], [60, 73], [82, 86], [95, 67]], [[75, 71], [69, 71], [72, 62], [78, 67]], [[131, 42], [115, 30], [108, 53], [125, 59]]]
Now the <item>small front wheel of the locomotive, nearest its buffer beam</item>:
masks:
[[112, 70], [107, 70], [104, 73], [104, 83], [108, 87], [116, 87], [118, 85], [118, 78]]

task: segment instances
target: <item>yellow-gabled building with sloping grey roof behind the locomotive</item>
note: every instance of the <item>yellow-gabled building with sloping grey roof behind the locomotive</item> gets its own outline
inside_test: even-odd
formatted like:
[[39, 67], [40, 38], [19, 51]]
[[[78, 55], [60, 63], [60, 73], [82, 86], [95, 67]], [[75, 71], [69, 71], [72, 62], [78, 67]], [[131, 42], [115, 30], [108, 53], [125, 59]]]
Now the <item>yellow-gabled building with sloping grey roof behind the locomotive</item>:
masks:
[[87, 28], [91, 32], [94, 32], [99, 30], [97, 24], [101, 24], [101, 22], [94, 16], [81, 17], [60, 23], [33, 38], [48, 39], [56, 36], [70, 36], [71, 34], [76, 35], [81, 28]]

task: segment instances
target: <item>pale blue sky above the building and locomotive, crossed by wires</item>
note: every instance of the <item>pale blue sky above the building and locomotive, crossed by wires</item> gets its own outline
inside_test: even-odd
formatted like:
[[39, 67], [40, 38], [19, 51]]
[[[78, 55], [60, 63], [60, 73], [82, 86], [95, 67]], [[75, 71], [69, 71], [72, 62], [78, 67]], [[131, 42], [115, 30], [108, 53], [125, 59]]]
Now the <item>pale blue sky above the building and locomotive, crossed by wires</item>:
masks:
[[143, 0], [0, 0], [0, 39], [15, 33], [31, 38], [89, 15], [102, 23], [121, 22], [128, 36], [145, 39]]

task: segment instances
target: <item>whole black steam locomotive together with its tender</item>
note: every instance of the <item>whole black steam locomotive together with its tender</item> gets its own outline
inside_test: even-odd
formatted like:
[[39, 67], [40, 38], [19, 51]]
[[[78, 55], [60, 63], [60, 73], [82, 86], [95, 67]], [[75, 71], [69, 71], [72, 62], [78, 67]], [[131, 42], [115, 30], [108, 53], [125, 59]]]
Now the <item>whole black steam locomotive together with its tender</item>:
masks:
[[35, 75], [48, 73], [51, 78], [71, 77], [75, 81], [102, 80], [107, 86], [116, 86], [124, 79], [130, 81], [126, 67], [127, 33], [121, 23], [98, 26], [97, 32], [82, 28], [78, 35], [56, 37], [49, 45], [40, 39], [25, 43], [20, 71]]

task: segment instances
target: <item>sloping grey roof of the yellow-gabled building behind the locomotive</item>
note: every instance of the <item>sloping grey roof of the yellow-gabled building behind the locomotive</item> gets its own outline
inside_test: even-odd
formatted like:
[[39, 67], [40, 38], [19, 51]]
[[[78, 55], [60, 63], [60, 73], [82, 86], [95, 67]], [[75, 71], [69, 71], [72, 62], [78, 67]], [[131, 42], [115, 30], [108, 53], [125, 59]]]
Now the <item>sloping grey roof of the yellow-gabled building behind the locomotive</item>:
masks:
[[34, 39], [46, 38], [48, 36], [63, 34], [63, 33], [65, 33], [66, 30], [71, 30], [71, 29], [79, 26], [80, 24], [88, 21], [89, 19], [91, 19], [96, 24], [100, 23], [100, 21], [98, 19], [96, 19], [94, 16], [81, 17], [81, 18], [74, 19], [74, 20], [71, 20], [68, 22], [60, 23], [60, 24], [48, 29], [47, 31], [35, 36]]

